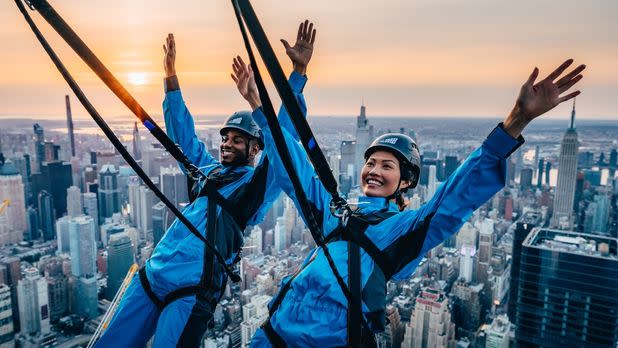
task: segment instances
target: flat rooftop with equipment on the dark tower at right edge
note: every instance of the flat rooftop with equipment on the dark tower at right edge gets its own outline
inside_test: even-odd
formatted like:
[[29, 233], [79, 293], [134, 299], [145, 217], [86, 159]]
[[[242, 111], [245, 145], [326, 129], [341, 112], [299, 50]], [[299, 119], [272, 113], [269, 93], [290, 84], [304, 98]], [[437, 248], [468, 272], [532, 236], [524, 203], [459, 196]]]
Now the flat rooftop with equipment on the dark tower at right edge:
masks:
[[535, 228], [524, 246], [618, 260], [618, 239], [572, 231]]

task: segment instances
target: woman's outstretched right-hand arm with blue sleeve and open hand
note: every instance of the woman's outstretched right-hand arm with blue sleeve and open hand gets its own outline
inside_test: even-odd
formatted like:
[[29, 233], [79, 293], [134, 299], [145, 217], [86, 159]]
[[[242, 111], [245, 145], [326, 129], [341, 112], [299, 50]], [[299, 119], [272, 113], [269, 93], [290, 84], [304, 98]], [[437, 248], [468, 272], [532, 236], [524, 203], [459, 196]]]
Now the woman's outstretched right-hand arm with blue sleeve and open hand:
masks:
[[382, 245], [387, 246], [397, 237], [408, 234], [408, 244], [400, 249], [415, 258], [402, 258], [407, 265], [401, 265], [403, 269], [395, 278], [411, 276], [425, 253], [459, 231], [478, 207], [504, 187], [506, 158], [523, 143], [521, 132], [526, 125], [580, 94], [575, 91], [560, 97], [582, 78], [580, 73], [585, 65], [559, 79], [572, 63], [573, 60], [567, 60], [536, 84], [539, 71], [535, 68], [522, 86], [513, 111], [491, 132], [481, 147], [440, 186], [429, 202], [417, 211], [398, 216], [394, 225], [403, 228], [394, 228], [394, 233], [381, 241]]

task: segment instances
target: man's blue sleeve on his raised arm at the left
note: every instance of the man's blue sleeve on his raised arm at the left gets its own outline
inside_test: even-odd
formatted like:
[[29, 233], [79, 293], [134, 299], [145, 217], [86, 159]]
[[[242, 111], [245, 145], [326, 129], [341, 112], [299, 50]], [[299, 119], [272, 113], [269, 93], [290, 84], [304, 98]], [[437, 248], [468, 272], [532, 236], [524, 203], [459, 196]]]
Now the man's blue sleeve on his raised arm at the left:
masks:
[[[163, 116], [167, 135], [174, 143], [180, 145], [182, 152], [195, 166], [203, 167], [214, 164], [217, 160], [208, 152], [195, 133], [193, 116], [187, 109], [177, 81], [176, 76], [165, 79]], [[180, 167], [184, 172], [184, 168]]]

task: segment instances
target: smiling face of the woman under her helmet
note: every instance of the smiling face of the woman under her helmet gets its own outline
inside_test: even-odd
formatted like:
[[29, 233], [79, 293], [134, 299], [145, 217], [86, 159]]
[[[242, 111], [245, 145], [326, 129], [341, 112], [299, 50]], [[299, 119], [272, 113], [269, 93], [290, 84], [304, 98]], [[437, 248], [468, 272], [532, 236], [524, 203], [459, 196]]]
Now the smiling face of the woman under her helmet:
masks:
[[[365, 196], [389, 197], [397, 189], [401, 179], [399, 160], [388, 151], [372, 153], [361, 171], [361, 188]], [[402, 181], [400, 188], [410, 183]]]

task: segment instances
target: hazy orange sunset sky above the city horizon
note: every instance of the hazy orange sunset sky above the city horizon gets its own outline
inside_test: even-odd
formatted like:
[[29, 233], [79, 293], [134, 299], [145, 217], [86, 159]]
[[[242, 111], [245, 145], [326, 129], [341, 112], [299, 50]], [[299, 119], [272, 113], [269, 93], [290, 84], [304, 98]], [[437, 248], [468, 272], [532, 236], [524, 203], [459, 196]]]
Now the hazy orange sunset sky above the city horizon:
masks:
[[[134, 93], [161, 114], [162, 44], [177, 41], [177, 71], [191, 111], [246, 109], [229, 78], [246, 56], [229, 1], [55, 0], [50, 3]], [[616, 0], [254, 0], [286, 71], [280, 38], [309, 18], [318, 36], [305, 89], [310, 113], [370, 116], [500, 116], [536, 65], [588, 65], [578, 117], [618, 119]], [[34, 15], [91, 101], [106, 117], [127, 109]], [[0, 117], [64, 117], [68, 86], [13, 1], [0, 2]], [[271, 96], [275, 96], [274, 92]], [[273, 98], [274, 99], [274, 98]], [[278, 104], [278, 99], [275, 99]], [[73, 113], [87, 117], [73, 98]], [[563, 105], [552, 117], [567, 118]]]

